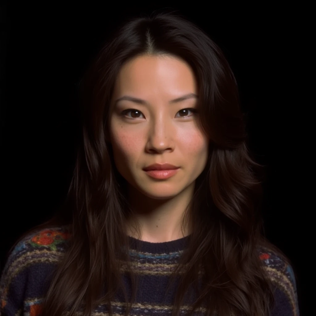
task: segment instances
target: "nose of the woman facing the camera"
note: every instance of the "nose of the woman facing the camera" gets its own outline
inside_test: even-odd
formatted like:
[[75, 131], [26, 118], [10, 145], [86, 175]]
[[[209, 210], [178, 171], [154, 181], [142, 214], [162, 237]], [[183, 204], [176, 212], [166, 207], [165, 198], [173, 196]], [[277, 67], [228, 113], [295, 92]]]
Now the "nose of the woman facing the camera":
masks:
[[167, 118], [162, 115], [159, 119], [153, 120], [149, 126], [146, 151], [149, 153], [163, 153], [174, 150], [175, 128]]

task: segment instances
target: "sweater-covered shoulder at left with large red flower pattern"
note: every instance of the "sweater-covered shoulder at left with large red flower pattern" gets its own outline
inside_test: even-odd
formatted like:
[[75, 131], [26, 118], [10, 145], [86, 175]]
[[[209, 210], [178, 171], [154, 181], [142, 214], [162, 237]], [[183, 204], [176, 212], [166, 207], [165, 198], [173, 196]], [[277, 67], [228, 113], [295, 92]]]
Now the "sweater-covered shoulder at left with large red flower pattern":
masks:
[[66, 227], [53, 227], [27, 234], [16, 244], [1, 273], [0, 315], [25, 311], [27, 304], [41, 300], [69, 238]]

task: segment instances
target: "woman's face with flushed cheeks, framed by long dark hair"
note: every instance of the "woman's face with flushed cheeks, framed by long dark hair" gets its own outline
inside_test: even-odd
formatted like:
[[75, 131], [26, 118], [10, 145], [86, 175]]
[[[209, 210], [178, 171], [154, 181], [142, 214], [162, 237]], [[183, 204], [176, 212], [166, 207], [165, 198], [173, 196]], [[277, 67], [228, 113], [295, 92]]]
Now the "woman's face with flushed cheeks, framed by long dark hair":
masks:
[[[172, 102], [188, 94], [186, 100]], [[204, 170], [208, 139], [190, 110], [197, 108], [193, 94], [197, 95], [193, 71], [172, 56], [140, 56], [119, 72], [110, 111], [114, 161], [127, 182], [148, 197], [174, 197], [194, 187]], [[117, 101], [125, 96], [139, 100]], [[179, 169], [167, 179], [156, 179], [143, 170], [155, 163]]]

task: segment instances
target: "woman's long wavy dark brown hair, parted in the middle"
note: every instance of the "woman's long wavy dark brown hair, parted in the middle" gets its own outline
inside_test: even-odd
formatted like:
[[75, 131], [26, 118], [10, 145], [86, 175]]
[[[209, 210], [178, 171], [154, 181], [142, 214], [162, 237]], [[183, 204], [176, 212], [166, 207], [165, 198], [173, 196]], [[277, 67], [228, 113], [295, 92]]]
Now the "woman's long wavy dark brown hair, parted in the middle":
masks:
[[123, 63], [143, 54], [177, 56], [192, 67], [198, 84], [199, 123], [210, 139], [207, 165], [196, 180], [183, 220], [183, 225], [185, 221], [192, 225], [190, 242], [170, 278], [169, 285], [185, 267], [172, 315], [179, 315], [185, 293], [197, 284], [201, 268], [203, 282], [190, 315], [202, 304], [208, 315], [268, 315], [274, 303], [273, 287], [259, 249], [284, 255], [264, 237], [258, 178], [262, 166], [246, 145], [236, 80], [220, 48], [204, 31], [179, 15], [159, 13], [121, 26], [80, 82], [82, 137], [70, 189], [64, 207], [50, 221], [32, 228], [68, 225], [71, 231], [42, 316], [60, 316], [67, 310], [69, 315], [79, 310], [91, 315], [99, 304], [107, 304], [112, 316], [111, 301], [119, 289], [125, 295], [125, 316], [135, 301], [138, 283], [129, 252], [122, 254], [122, 261], [132, 281], [131, 301], [121, 278], [122, 261], [117, 260], [117, 249], [129, 249], [125, 221], [132, 211], [125, 199], [126, 180], [116, 169], [107, 139], [116, 77]]

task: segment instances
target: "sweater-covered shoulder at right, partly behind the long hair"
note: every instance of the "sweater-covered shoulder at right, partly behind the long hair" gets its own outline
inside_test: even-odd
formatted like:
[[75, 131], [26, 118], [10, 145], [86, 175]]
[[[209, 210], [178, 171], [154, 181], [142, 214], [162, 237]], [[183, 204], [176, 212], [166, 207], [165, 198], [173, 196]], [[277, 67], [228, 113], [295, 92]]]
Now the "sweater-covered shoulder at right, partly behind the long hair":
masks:
[[298, 316], [295, 273], [289, 260], [269, 248], [261, 248], [259, 258], [274, 285], [275, 306], [271, 315]]

